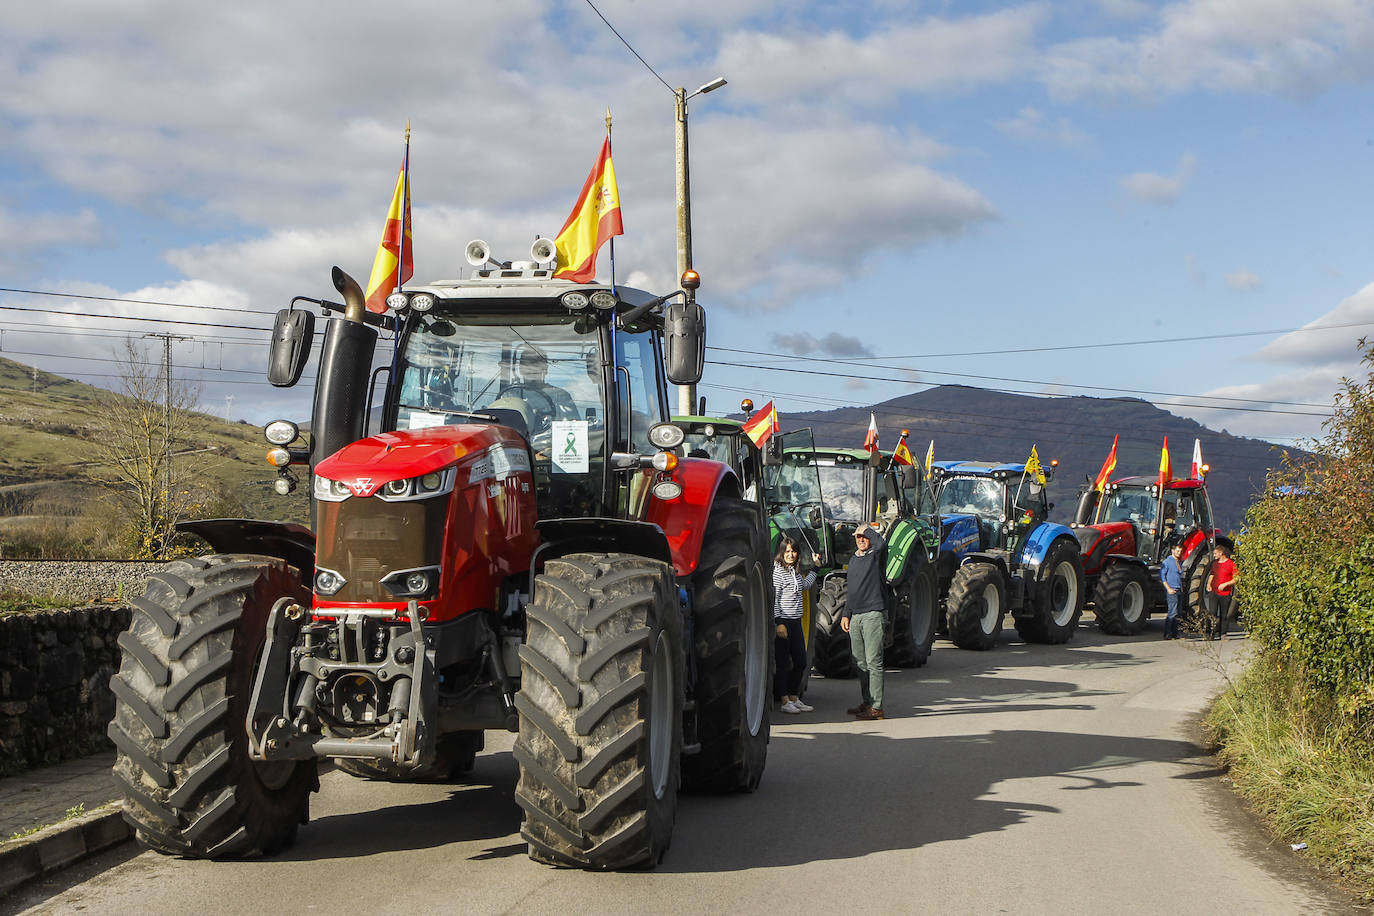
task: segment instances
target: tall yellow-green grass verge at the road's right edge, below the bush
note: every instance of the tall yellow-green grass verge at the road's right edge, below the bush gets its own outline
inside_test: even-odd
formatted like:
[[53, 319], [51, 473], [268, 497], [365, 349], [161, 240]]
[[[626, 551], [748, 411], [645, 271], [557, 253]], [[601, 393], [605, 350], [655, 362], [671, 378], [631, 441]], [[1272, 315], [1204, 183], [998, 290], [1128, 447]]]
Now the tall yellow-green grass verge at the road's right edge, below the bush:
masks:
[[1208, 715], [1231, 781], [1286, 843], [1374, 902], [1374, 747], [1260, 655]]

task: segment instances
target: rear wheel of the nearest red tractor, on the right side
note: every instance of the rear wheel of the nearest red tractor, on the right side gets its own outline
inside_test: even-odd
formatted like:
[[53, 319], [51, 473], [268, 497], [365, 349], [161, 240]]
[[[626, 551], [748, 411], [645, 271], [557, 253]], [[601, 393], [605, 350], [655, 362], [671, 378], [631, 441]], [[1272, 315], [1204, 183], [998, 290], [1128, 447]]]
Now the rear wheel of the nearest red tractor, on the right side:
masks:
[[752, 792], [768, 757], [774, 670], [772, 564], [758, 509], [720, 499], [692, 574], [697, 740], [683, 788]]

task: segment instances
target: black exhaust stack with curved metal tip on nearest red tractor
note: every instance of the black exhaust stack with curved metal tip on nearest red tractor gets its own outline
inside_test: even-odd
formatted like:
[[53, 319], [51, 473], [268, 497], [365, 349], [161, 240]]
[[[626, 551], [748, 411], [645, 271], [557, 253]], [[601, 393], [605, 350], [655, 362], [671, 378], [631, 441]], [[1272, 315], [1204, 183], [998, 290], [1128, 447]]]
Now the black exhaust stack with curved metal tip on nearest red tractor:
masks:
[[339, 268], [334, 268], [331, 276], [345, 308], [344, 317], [330, 319], [324, 330], [311, 424], [312, 472], [316, 464], [363, 438], [367, 385], [376, 350], [376, 328], [363, 321], [367, 314], [363, 288]]

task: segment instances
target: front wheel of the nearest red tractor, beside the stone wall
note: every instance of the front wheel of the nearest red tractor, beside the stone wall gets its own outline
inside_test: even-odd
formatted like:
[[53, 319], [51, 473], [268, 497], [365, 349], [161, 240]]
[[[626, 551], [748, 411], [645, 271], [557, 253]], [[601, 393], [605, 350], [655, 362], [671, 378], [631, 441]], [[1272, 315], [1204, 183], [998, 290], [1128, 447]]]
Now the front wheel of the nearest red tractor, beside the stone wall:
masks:
[[284, 562], [217, 555], [168, 564], [133, 599], [109, 735], [124, 817], [147, 846], [265, 856], [309, 818], [316, 762], [249, 759], [243, 725], [268, 611], [286, 596], [311, 603]]

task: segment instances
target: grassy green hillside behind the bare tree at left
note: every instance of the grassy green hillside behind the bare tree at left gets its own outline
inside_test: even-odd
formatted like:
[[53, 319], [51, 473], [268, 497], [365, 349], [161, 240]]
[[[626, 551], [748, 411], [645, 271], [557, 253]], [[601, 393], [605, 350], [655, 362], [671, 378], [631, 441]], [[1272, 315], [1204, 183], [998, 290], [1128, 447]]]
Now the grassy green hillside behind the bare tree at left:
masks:
[[[91, 438], [99, 434], [102, 398], [109, 391], [0, 358], [0, 529], [44, 518], [82, 515], [103, 496], [88, 479]], [[308, 503], [300, 490], [280, 497], [272, 490], [262, 431], [209, 413], [192, 413], [191, 446], [206, 452], [209, 474], [242, 503], [245, 515], [304, 520]]]

